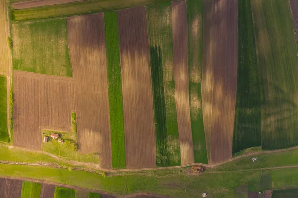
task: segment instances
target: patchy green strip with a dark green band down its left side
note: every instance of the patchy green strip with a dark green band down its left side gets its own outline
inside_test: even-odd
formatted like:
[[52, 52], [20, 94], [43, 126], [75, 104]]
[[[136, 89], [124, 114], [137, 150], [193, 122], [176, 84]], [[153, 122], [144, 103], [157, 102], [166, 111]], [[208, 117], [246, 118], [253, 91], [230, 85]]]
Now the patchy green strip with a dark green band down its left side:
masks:
[[173, 71], [170, 2], [146, 7], [156, 138], [156, 165], [181, 165]]

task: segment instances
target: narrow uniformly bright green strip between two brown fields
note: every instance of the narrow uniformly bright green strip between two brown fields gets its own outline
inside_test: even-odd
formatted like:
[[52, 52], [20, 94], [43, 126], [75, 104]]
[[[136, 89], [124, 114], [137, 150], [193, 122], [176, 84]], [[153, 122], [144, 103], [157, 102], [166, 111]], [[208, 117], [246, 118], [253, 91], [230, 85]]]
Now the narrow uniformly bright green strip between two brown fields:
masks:
[[113, 168], [125, 168], [125, 139], [117, 12], [104, 13]]

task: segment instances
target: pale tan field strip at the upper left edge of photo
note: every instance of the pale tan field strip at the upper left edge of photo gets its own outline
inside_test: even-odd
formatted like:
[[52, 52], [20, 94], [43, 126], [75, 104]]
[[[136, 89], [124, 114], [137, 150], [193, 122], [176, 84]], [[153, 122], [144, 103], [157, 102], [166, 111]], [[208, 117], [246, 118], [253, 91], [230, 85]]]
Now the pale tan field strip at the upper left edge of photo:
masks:
[[0, 74], [8, 73], [11, 67], [9, 49], [9, 26], [7, 22], [7, 0], [0, 2]]

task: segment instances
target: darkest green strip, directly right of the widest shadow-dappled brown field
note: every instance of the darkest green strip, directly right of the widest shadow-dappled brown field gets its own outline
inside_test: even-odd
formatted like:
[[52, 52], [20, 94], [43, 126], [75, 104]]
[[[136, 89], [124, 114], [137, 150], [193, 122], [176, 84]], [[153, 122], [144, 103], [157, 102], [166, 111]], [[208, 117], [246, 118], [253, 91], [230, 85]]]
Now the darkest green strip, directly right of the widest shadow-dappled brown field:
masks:
[[233, 153], [261, 146], [261, 92], [250, 0], [238, 1], [238, 77]]

